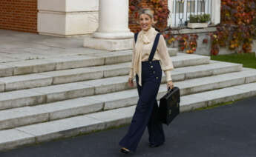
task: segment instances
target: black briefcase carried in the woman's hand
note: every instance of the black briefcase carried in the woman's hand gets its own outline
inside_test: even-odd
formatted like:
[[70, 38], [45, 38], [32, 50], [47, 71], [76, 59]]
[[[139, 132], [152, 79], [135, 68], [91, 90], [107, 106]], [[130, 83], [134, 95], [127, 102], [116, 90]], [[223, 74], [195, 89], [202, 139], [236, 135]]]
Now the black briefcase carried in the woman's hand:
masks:
[[180, 113], [180, 89], [173, 87], [160, 98], [160, 107], [158, 116], [163, 124], [170, 124], [172, 120]]

